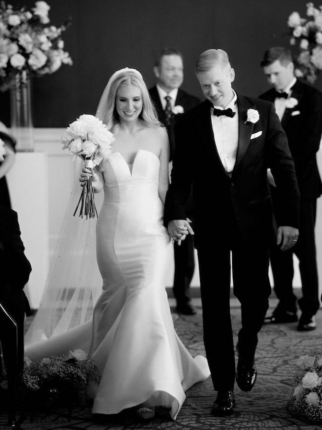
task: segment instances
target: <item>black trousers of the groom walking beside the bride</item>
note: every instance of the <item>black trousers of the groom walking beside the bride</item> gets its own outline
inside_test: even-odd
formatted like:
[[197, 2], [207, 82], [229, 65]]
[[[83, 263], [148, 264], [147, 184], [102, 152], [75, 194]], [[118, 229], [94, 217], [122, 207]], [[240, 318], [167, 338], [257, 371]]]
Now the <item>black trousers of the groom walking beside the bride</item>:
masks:
[[[215, 390], [234, 388], [233, 336], [238, 335], [239, 364], [252, 365], [271, 293], [269, 246], [261, 245], [260, 235], [258, 243], [247, 245], [232, 209], [225, 220], [218, 235], [198, 240], [203, 338]], [[230, 317], [230, 253], [234, 294], [241, 302], [239, 333], [232, 330]]]

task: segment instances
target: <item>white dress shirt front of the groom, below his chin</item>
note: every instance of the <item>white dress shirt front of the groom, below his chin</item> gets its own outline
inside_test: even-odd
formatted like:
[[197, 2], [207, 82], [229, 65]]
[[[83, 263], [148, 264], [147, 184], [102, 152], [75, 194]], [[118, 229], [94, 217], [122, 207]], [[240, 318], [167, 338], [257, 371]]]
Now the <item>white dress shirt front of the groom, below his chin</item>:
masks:
[[[231, 108], [233, 112], [236, 112], [233, 118], [221, 115], [217, 117], [213, 114], [214, 109], [210, 108], [211, 125], [214, 133], [214, 139], [217, 147], [221, 163], [226, 172], [231, 173], [233, 171], [237, 148], [238, 148], [238, 106], [237, 106], [237, 94], [233, 90], [234, 97], [231, 102], [225, 107], [225, 109]], [[216, 109], [222, 109], [220, 106], [214, 106]]]

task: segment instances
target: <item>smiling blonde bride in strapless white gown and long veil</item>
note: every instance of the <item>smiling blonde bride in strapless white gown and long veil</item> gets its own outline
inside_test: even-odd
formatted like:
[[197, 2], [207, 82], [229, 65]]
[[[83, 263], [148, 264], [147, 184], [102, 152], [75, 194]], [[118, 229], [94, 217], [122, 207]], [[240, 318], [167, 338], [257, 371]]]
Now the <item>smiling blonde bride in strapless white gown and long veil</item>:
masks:
[[[154, 407], [164, 406], [176, 419], [185, 390], [210, 372], [205, 357], [192, 358], [175, 332], [164, 287], [170, 242], [162, 224], [168, 188], [167, 133], [135, 69], [112, 75], [96, 116], [115, 137], [111, 156], [92, 175], [95, 192], [103, 190], [104, 196], [96, 225], [101, 296], [87, 321], [76, 318], [68, 329], [62, 325], [41, 331], [38, 314], [48, 319], [54, 294], [48, 286], [51, 292], [45, 293], [32, 333], [26, 336], [25, 356], [37, 361], [81, 348], [93, 354], [101, 373], [93, 413], [135, 408], [138, 417], [152, 418]], [[82, 186], [90, 175], [83, 167]], [[41, 312], [42, 307], [47, 310]]]

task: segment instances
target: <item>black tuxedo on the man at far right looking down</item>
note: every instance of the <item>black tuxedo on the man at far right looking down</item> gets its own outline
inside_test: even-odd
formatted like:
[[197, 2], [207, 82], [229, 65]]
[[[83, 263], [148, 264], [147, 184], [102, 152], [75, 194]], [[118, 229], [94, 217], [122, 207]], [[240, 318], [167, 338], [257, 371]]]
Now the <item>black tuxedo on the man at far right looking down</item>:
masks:
[[[260, 96], [263, 100], [275, 101], [274, 89]], [[275, 292], [280, 299], [282, 312], [296, 312], [296, 296], [293, 294], [293, 252], [300, 260], [302, 278], [302, 298], [299, 305], [303, 313], [315, 315], [320, 307], [318, 269], [315, 248], [315, 219], [317, 198], [322, 193], [322, 183], [318, 170], [316, 153], [319, 150], [322, 133], [322, 93], [316, 88], [296, 81], [291, 98], [298, 103], [286, 108], [282, 116], [282, 127], [287, 135], [289, 148], [294, 159], [295, 172], [301, 193], [300, 233], [296, 246], [286, 252], [276, 248], [271, 250], [271, 264], [274, 275]], [[280, 218], [280, 201], [277, 190], [272, 187], [274, 212]]]

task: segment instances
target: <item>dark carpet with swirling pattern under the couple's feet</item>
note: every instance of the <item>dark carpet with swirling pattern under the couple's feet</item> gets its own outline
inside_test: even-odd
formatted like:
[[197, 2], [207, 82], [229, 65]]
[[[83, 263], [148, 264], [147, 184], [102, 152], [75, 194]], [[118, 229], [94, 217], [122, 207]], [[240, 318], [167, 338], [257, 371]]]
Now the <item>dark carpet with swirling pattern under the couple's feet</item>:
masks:
[[[241, 323], [240, 308], [232, 307], [234, 335]], [[173, 313], [176, 330], [193, 356], [204, 354], [202, 343], [201, 308], [195, 316], [179, 316]], [[30, 415], [18, 411], [22, 429], [32, 430], [125, 430], [125, 429], [171, 429], [171, 430], [313, 430], [321, 426], [306, 424], [292, 417], [285, 409], [290, 387], [283, 383], [284, 368], [288, 362], [305, 354], [310, 348], [322, 346], [322, 310], [317, 314], [318, 328], [312, 332], [296, 331], [296, 323], [266, 325], [262, 328], [256, 354], [258, 378], [250, 392], [242, 392], [236, 385], [237, 406], [233, 417], [217, 418], [210, 414], [216, 393], [210, 378], [196, 384], [187, 391], [187, 399], [178, 415], [172, 421], [166, 410], [157, 410], [156, 418], [149, 423], [131, 422], [126, 416], [102, 416], [93, 420], [90, 407], [74, 408], [71, 421], [67, 420], [67, 410], [58, 407], [50, 411], [37, 410], [30, 423]], [[220, 345], [218, 345], [220, 353]], [[0, 397], [0, 428], [6, 427], [5, 397]]]

